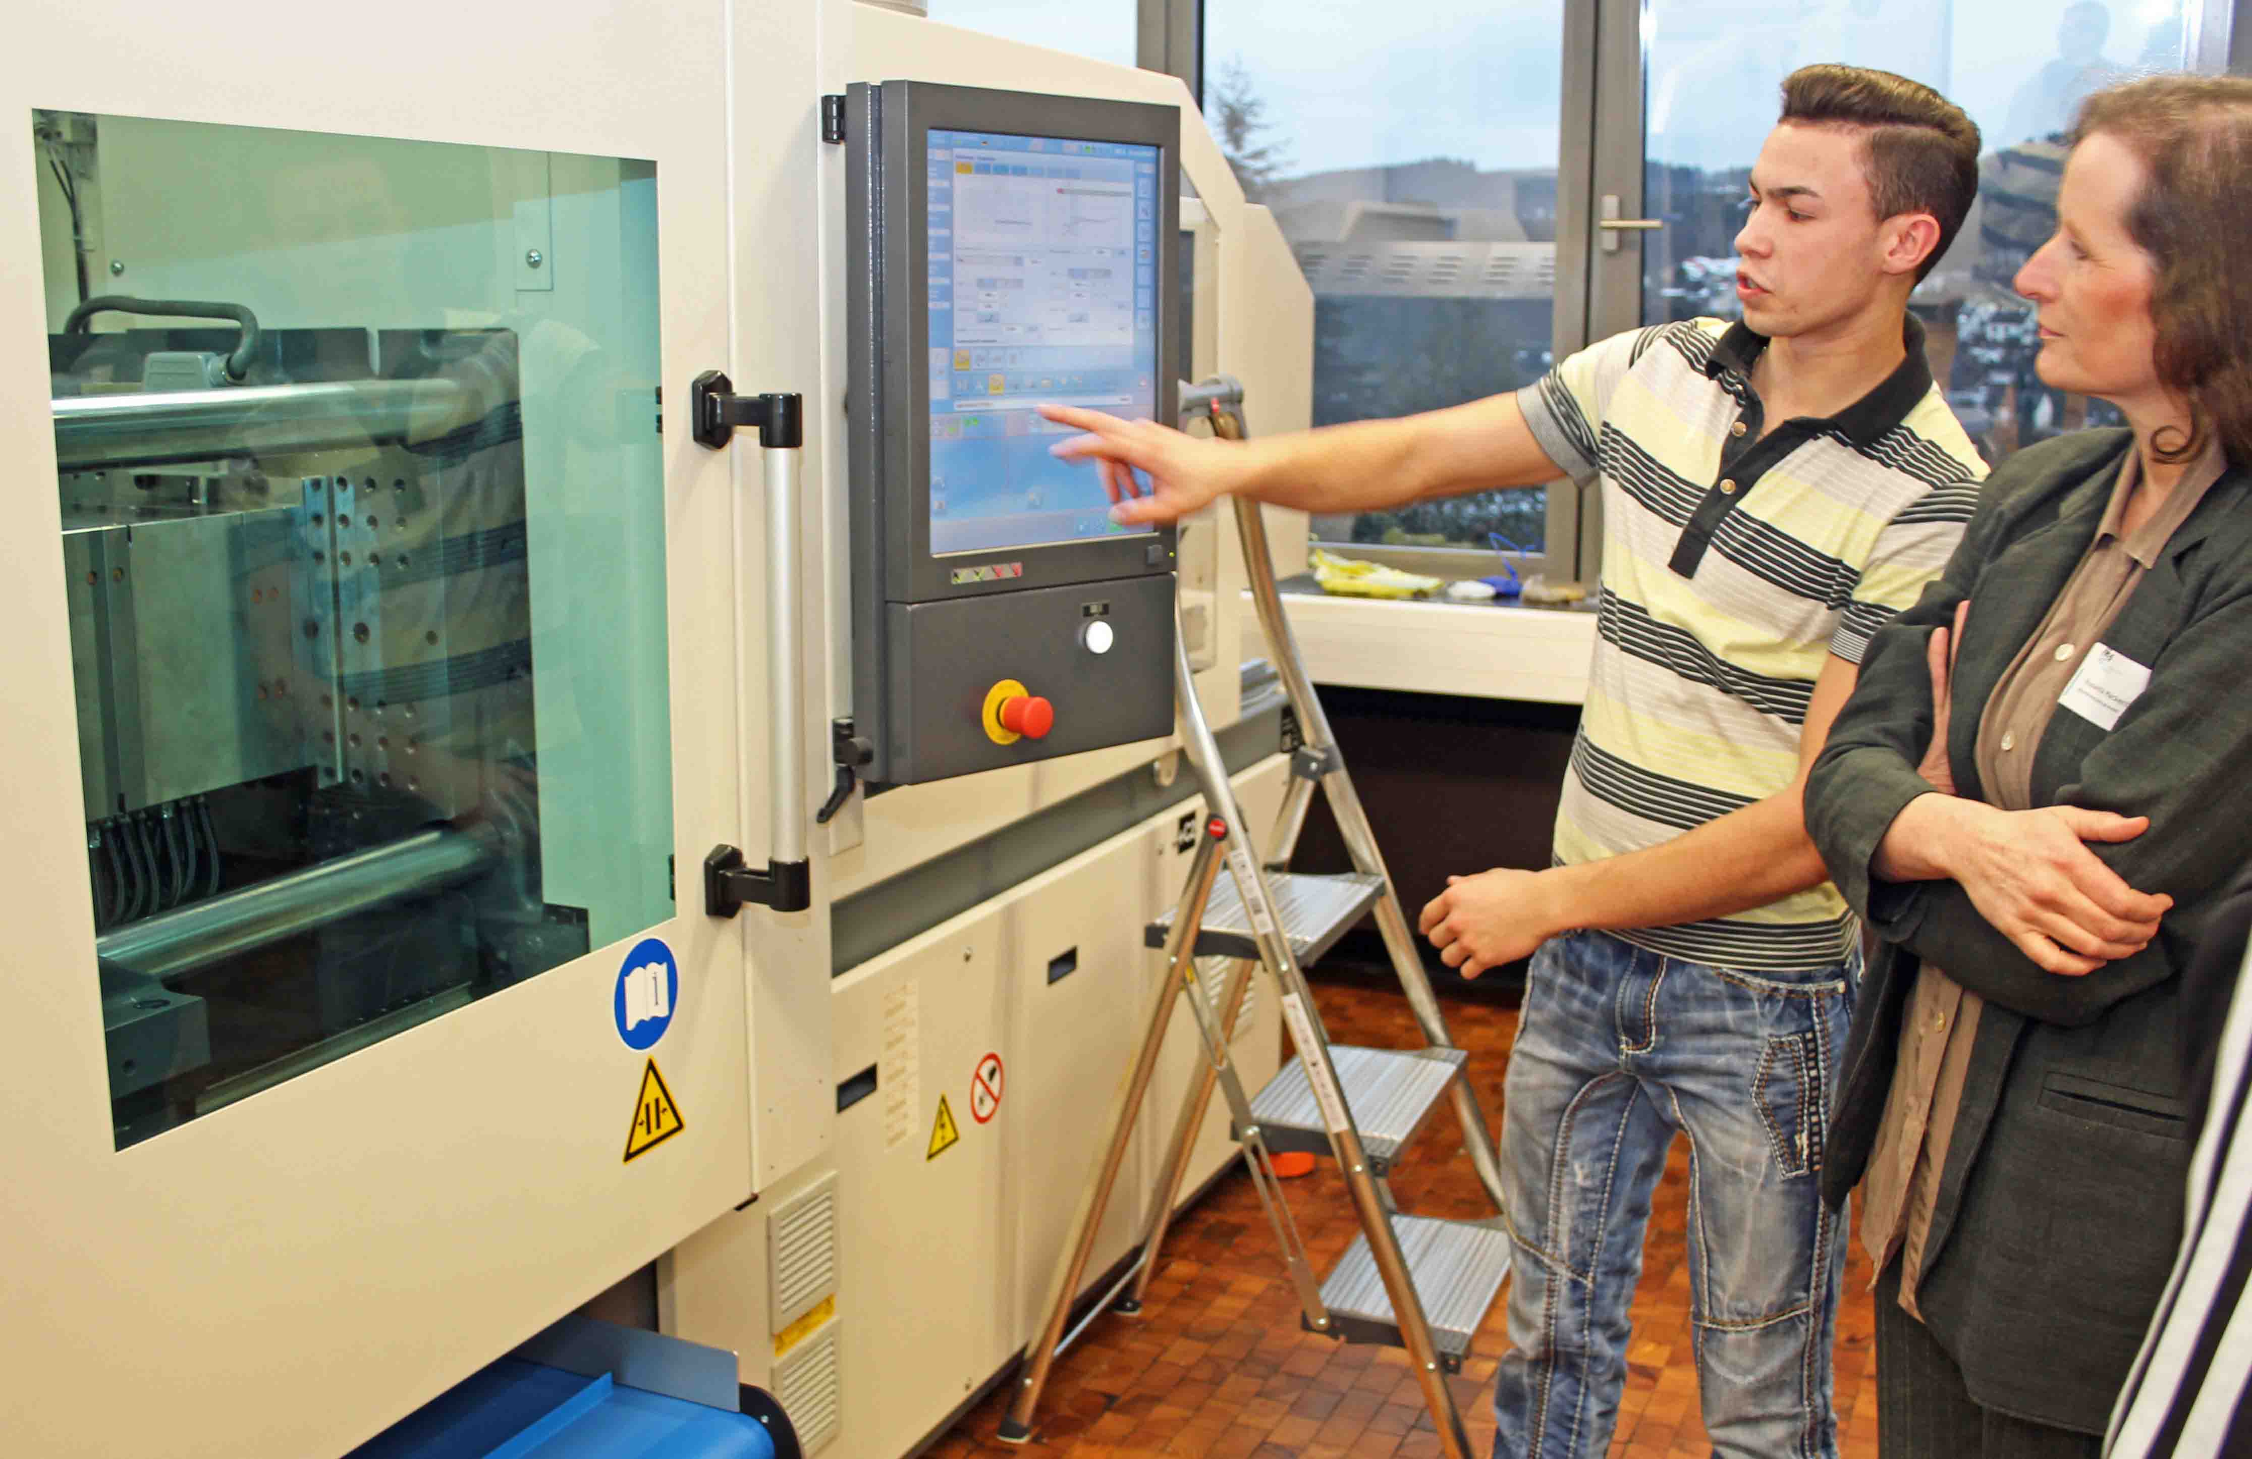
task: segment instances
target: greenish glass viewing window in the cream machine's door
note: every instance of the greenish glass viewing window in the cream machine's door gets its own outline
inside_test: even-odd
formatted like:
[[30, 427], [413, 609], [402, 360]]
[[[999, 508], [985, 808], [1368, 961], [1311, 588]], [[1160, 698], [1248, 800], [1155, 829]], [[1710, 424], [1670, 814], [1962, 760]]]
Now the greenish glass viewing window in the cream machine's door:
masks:
[[124, 1146], [671, 916], [655, 169], [34, 131]]

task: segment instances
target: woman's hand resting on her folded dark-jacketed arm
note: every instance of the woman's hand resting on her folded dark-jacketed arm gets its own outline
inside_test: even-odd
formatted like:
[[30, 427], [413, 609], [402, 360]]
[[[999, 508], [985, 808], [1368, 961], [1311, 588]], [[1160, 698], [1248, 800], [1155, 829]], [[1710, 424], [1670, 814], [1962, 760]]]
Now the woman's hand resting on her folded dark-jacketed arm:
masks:
[[1984, 802], [1919, 795], [1885, 833], [1878, 874], [1961, 883], [1980, 916], [2036, 966], [2081, 977], [2139, 952], [2173, 907], [2171, 896], [2126, 885], [2088, 849], [2088, 842], [2128, 842], [2148, 829], [2148, 815], [2081, 806], [1998, 811]]

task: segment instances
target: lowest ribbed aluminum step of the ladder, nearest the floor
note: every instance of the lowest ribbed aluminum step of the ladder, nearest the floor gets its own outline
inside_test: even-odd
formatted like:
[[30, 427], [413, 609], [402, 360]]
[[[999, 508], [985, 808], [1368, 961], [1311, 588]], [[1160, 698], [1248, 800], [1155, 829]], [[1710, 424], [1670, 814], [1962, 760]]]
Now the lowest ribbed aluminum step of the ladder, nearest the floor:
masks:
[[[1509, 1232], [1500, 1216], [1491, 1223], [1394, 1216], [1392, 1234], [1407, 1259], [1417, 1297], [1423, 1299], [1439, 1364], [1457, 1373], [1471, 1355], [1471, 1337], [1509, 1277]], [[1347, 1342], [1405, 1346], [1367, 1234], [1353, 1238], [1344, 1261], [1322, 1281], [1322, 1306], [1329, 1308], [1333, 1333]]]

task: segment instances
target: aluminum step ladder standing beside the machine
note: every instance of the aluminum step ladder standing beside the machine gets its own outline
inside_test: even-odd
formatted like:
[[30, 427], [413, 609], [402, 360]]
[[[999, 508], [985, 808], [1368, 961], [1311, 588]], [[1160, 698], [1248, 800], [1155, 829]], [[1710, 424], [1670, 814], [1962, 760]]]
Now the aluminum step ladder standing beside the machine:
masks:
[[[1243, 439], [1243, 387], [1227, 378], [1182, 385], [1182, 419], [1205, 419], [1214, 435]], [[1500, 1162], [1471, 1090], [1468, 1056], [1453, 1047], [1446, 1036], [1439, 1000], [1423, 975], [1417, 934], [1392, 889], [1367, 813], [1344, 772], [1344, 759], [1338, 754], [1335, 736], [1322, 714], [1322, 702], [1313, 696], [1297, 639], [1284, 617], [1266, 518], [1257, 502], [1239, 500], [1234, 513], [1259, 626], [1266, 630], [1268, 653], [1281, 675], [1290, 709], [1297, 714], [1304, 743], [1290, 752], [1290, 788], [1277, 815], [1272, 853], [1261, 860], [1227, 786], [1227, 768], [1212, 739], [1212, 727], [1196, 702], [1187, 637], [1176, 633], [1173, 684], [1180, 698], [1185, 752], [1205, 795], [1207, 817], [1198, 831], [1180, 905], [1155, 921], [1146, 939], [1151, 948], [1164, 950], [1164, 979], [1178, 993], [1178, 1002], [1189, 1004], [1205, 1060], [1173, 1126], [1162, 1184], [1140, 1254], [1067, 1333], [1079, 1283], [1085, 1279], [1103, 1209], [1126, 1160], [1173, 1015], [1176, 997], [1160, 991], [1140, 1056], [1117, 1092], [1110, 1115], [1110, 1146], [1094, 1182], [1081, 1196], [1072, 1245], [1065, 1250], [1049, 1288], [1047, 1322], [1025, 1353], [1000, 1439], [1009, 1443], [1031, 1441], [1034, 1409], [1040, 1403], [1047, 1373], [1088, 1324], [1106, 1308], [1124, 1315], [1142, 1310], [1173, 1202], [1180, 1200], [1196, 1135], [1205, 1124], [1205, 1108], [1212, 1103], [1214, 1085], [1218, 1085], [1227, 1099], [1234, 1137], [1243, 1146], [1252, 1189], [1275, 1227], [1304, 1326], [1344, 1342], [1405, 1349], [1439, 1430], [1441, 1450], [1448, 1459], [1471, 1459], [1468, 1436], [1446, 1376], [1462, 1369], [1471, 1353], [1471, 1337], [1509, 1274], [1511, 1245], [1502, 1216]], [[1353, 871], [1344, 876], [1288, 871], [1315, 790], [1329, 799], [1338, 829], [1344, 833], [1353, 860]], [[1223, 865], [1227, 867], [1225, 883], [1218, 876]], [[1313, 1009], [1304, 968], [1329, 952], [1371, 910], [1401, 991], [1421, 1027], [1426, 1042], [1421, 1049], [1331, 1045]], [[1207, 995], [1196, 966], [1198, 957], [1214, 955], [1234, 959], [1218, 1006]], [[1230, 1042], [1254, 968], [1263, 968], [1277, 984], [1295, 1056], [1259, 1094], [1245, 1094], [1230, 1058]], [[1464, 1148], [1493, 1200], [1495, 1214], [1486, 1220], [1410, 1216], [1398, 1211], [1392, 1200], [1387, 1184], [1392, 1164], [1441, 1103], [1453, 1108], [1455, 1121], [1462, 1126]], [[1315, 1277], [1297, 1236], [1297, 1225], [1272, 1169], [1272, 1155], [1279, 1151], [1333, 1155], [1344, 1175], [1360, 1236], [1329, 1277]]]

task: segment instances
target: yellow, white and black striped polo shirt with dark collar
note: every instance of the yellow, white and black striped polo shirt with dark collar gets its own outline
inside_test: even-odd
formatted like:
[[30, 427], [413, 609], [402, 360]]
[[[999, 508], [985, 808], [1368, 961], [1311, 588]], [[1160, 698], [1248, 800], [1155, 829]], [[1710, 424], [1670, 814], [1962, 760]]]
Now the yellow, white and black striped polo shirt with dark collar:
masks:
[[[1603, 489], [1588, 702], [1556, 865], [1639, 851], [1786, 790], [1815, 675], [1939, 574], [1984, 462], [1907, 320], [1907, 358], [1826, 419], [1766, 430], [1768, 340], [1725, 320], [1615, 335], [1518, 392], [1563, 471]], [[1813, 973], [1853, 916], [1829, 883], [1752, 912], [1617, 937], [1700, 964]]]

